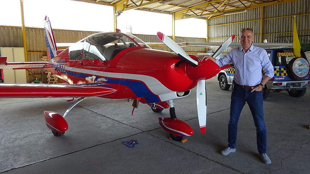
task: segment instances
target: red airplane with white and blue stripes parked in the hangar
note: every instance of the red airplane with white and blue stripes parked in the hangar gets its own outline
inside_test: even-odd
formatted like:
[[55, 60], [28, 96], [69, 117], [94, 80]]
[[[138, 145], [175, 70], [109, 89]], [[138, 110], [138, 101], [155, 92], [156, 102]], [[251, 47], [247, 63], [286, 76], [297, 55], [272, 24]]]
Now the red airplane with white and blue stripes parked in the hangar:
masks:
[[[68, 130], [64, 119], [68, 112], [87, 97], [133, 99], [133, 110], [139, 102], [154, 112], [170, 109], [170, 117], [158, 118], [162, 128], [176, 141], [193, 135], [193, 129], [176, 118], [173, 100], [186, 97], [197, 86], [197, 111], [201, 133], [206, 130], [205, 80], [221, 69], [211, 60], [197, 62], [173, 40], [158, 32], [158, 38], [173, 52], [153, 50], [133, 35], [118, 32], [92, 34], [65, 50], [57, 50], [50, 21], [45, 17], [45, 40], [48, 62], [7, 63], [0, 58], [0, 68], [45, 68], [65, 84], [0, 84], [0, 98], [79, 98], [60, 115], [44, 111], [46, 125], [55, 136]], [[213, 57], [225, 50], [230, 37]]]

